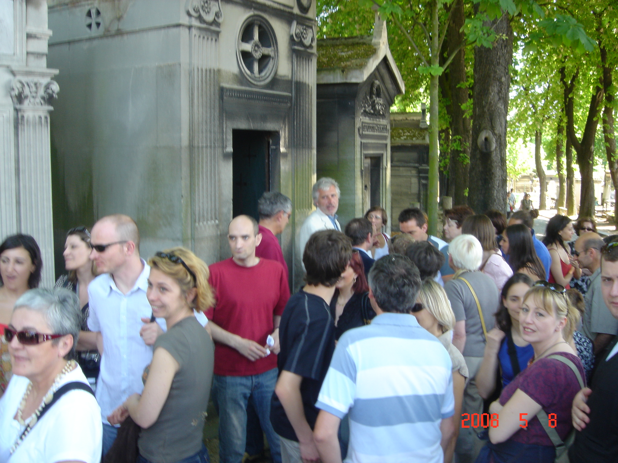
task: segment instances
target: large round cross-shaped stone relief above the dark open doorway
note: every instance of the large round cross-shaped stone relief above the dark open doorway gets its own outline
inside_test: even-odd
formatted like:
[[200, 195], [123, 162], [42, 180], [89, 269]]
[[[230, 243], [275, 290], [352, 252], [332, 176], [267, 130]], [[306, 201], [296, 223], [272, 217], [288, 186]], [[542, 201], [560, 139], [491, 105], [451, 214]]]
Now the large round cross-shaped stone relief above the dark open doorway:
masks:
[[277, 37], [266, 18], [253, 15], [242, 23], [236, 54], [240, 70], [252, 83], [264, 85], [273, 78], [279, 49]]

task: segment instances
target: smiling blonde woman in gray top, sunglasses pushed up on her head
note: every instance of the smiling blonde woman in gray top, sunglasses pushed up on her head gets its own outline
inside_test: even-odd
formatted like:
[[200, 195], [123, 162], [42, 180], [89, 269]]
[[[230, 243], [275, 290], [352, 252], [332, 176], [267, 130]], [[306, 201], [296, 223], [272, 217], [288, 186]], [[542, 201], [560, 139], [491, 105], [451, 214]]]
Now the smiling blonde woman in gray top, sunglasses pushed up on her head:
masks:
[[[138, 463], [206, 463], [202, 430], [213, 378], [214, 346], [195, 318], [213, 305], [208, 267], [193, 252], [172, 248], [148, 261], [146, 297], [167, 332], [158, 336], [143, 393], [133, 394], [108, 417], [127, 416], [142, 428]], [[112, 448], [113, 450], [113, 448]]]

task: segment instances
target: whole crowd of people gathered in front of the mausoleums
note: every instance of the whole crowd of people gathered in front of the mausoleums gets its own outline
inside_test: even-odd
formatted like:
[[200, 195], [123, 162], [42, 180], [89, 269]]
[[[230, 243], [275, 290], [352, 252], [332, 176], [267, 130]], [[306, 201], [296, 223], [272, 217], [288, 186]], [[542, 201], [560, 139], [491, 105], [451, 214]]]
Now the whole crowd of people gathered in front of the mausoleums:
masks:
[[293, 294], [276, 192], [211, 265], [145, 261], [108, 215], [67, 232], [67, 273], [39, 288], [36, 241], [7, 237], [0, 463], [209, 462], [210, 401], [222, 463], [265, 438], [274, 463], [618, 461], [618, 240], [593, 218], [541, 241], [509, 196], [508, 218], [444, 211], [444, 240], [413, 207], [389, 236], [379, 206], [341, 227], [335, 180], [312, 196]]

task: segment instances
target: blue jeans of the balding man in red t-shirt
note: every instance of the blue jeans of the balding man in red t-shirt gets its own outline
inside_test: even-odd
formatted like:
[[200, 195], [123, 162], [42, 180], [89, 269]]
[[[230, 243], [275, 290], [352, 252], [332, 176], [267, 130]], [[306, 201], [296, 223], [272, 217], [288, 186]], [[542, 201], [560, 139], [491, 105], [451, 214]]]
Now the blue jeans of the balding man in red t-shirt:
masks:
[[270, 404], [277, 369], [252, 376], [213, 377], [213, 403], [219, 414], [219, 461], [240, 463], [247, 438], [247, 402], [251, 397], [271, 450], [273, 463], [281, 463], [281, 443], [270, 422]]

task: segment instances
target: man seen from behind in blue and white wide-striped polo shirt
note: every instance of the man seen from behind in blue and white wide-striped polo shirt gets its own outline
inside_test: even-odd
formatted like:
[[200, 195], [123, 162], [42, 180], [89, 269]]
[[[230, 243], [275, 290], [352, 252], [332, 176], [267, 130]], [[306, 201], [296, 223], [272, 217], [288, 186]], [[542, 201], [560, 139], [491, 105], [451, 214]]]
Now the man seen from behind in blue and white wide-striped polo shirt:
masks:
[[323, 463], [341, 463], [337, 430], [349, 414], [346, 463], [442, 463], [455, 430], [451, 359], [410, 314], [420, 277], [405, 256], [371, 267], [377, 316], [339, 339], [316, 406]]

